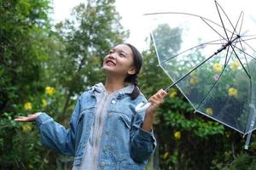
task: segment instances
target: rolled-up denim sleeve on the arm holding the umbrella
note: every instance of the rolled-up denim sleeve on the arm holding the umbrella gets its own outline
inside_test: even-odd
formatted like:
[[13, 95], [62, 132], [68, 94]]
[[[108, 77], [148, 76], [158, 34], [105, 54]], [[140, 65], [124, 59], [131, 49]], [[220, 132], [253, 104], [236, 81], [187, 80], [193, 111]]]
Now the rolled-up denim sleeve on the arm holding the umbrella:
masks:
[[145, 113], [137, 113], [131, 127], [131, 157], [134, 161], [142, 163], [148, 160], [156, 146], [153, 130], [146, 132], [142, 129]]

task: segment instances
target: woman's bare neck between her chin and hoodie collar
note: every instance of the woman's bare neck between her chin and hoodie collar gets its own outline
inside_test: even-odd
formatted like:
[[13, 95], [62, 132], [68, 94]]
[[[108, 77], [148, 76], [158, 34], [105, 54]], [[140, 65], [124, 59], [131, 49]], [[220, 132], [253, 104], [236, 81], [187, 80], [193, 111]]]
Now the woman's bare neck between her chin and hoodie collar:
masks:
[[107, 77], [105, 82], [105, 88], [108, 93], [113, 93], [116, 90], [124, 88], [124, 79], [118, 77]]

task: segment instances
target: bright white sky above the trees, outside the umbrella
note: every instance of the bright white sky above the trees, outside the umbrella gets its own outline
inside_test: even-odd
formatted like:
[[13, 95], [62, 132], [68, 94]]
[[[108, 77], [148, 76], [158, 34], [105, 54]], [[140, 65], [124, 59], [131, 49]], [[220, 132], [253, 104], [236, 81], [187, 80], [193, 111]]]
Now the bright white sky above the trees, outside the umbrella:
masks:
[[[55, 22], [65, 20], [70, 16], [72, 8], [79, 3], [86, 3], [86, 0], [54, 0], [52, 4], [54, 7], [53, 20]], [[218, 3], [230, 17], [237, 19], [242, 10], [256, 20], [256, 12], [254, 12], [256, 1], [254, 0], [218, 0]], [[122, 17], [121, 24], [125, 30], [131, 32], [127, 42], [135, 45], [140, 51], [148, 47], [145, 38], [150, 34], [150, 26], [143, 14], [185, 12], [218, 20], [214, 0], [116, 0], [115, 4]]]

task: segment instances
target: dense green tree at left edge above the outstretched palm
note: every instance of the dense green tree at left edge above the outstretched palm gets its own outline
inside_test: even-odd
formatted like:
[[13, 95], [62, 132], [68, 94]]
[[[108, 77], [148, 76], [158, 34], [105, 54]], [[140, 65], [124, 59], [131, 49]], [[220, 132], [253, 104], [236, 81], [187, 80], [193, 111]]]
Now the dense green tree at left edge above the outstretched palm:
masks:
[[[0, 1], [0, 109], [38, 93], [44, 73], [44, 39], [49, 34], [49, 1]], [[31, 83], [36, 83], [31, 86]], [[18, 100], [17, 100], [18, 99]]]

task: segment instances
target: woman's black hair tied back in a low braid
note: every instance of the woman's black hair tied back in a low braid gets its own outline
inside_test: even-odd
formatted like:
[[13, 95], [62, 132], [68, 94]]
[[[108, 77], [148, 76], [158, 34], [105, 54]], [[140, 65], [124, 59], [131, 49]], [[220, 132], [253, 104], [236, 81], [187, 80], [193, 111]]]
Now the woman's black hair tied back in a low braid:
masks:
[[134, 89], [132, 93], [130, 94], [131, 99], [136, 99], [137, 96], [141, 93], [139, 88], [137, 87], [137, 76], [143, 67], [143, 55], [130, 43], [123, 43], [127, 45], [129, 48], [131, 48], [132, 56], [133, 56], [133, 66], [136, 69], [136, 73], [133, 75], [129, 75], [125, 77], [125, 82], [131, 82], [134, 84]]

